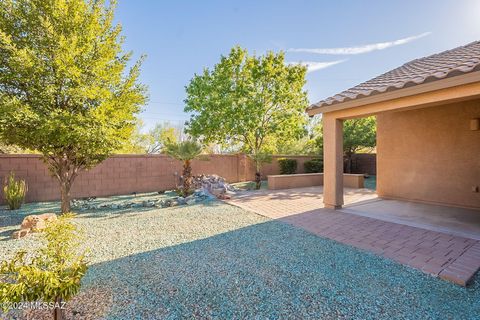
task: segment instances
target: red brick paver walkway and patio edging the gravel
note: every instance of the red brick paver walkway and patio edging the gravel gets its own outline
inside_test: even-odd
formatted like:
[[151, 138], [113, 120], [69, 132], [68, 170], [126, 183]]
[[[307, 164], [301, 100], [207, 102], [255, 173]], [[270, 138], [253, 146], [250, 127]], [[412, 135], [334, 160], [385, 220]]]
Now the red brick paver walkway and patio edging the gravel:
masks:
[[264, 191], [229, 203], [462, 286], [480, 267], [478, 240], [322, 208], [321, 194]]

